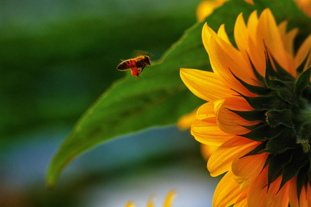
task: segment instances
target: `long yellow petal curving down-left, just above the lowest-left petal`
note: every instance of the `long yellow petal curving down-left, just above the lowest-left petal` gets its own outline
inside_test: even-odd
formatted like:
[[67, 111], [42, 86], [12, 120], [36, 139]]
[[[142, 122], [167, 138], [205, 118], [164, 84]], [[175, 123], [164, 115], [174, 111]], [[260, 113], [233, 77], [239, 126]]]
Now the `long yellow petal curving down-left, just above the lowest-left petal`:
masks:
[[220, 145], [207, 162], [207, 169], [212, 177], [216, 177], [231, 169], [234, 158], [256, 142], [245, 137], [235, 136]]

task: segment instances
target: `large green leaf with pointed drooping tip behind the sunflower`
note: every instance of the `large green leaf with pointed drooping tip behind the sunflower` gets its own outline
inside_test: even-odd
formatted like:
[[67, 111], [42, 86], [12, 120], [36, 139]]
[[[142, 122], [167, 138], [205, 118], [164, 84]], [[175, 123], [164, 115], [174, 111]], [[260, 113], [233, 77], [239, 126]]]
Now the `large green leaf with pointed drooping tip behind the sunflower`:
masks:
[[[292, 23], [293, 18], [299, 22], [298, 26], [308, 23], [307, 17], [290, 0], [255, 1], [254, 5], [243, 0], [229, 1], [216, 9], [206, 21], [214, 30], [225, 23], [229, 38], [233, 41], [234, 22], [239, 13], [243, 12], [247, 19], [253, 10], [261, 13], [266, 7], [279, 21], [289, 19]], [[186, 30], [159, 61], [144, 69], [137, 81], [126, 71], [128, 76], [114, 83], [82, 115], [49, 166], [49, 187], [55, 185], [59, 174], [72, 159], [91, 147], [125, 133], [173, 124], [181, 115], [202, 103], [179, 78], [179, 68], [211, 71], [201, 40], [202, 26], [203, 22], [199, 22]]]

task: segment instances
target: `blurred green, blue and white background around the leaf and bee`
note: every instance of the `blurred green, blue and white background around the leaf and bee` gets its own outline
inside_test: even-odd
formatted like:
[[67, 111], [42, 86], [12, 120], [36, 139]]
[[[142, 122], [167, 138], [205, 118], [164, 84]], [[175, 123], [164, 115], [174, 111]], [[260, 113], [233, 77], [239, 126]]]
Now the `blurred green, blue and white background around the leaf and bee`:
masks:
[[196, 22], [199, 2], [0, 1], [0, 206], [144, 206], [152, 193], [161, 206], [172, 188], [174, 206], [211, 204], [219, 179], [211, 181], [189, 131], [175, 126], [99, 146], [74, 160], [54, 190], [45, 186], [73, 124], [129, 75], [116, 70], [120, 59], [137, 49], [159, 59]]

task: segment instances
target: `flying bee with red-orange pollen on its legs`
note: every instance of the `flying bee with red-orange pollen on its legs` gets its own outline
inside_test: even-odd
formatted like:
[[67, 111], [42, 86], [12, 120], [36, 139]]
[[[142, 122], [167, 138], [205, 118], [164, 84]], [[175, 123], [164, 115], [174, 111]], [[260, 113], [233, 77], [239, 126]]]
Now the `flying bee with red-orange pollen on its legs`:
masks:
[[[150, 56], [137, 56], [135, 58], [128, 59], [126, 61], [123, 61], [120, 63], [117, 67], [118, 70], [128, 70], [131, 69], [131, 74], [133, 76], [137, 76], [136, 80], [138, 79], [139, 74], [142, 72], [142, 70], [147, 66], [150, 65], [150, 58], [154, 56], [150, 54]], [[138, 68], [141, 68], [142, 70], [139, 70]]]

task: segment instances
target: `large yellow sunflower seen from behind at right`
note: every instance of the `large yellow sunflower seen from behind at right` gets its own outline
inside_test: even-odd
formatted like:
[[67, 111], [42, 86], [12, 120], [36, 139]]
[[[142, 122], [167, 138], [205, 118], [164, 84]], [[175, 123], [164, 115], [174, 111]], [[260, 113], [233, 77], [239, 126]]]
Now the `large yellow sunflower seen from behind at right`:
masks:
[[234, 25], [237, 49], [221, 25], [205, 23], [203, 45], [212, 72], [180, 69], [185, 85], [206, 101], [191, 134], [218, 146], [211, 176], [226, 174], [213, 206], [311, 206], [311, 84], [309, 35], [297, 52], [298, 29], [286, 32], [269, 9]]

